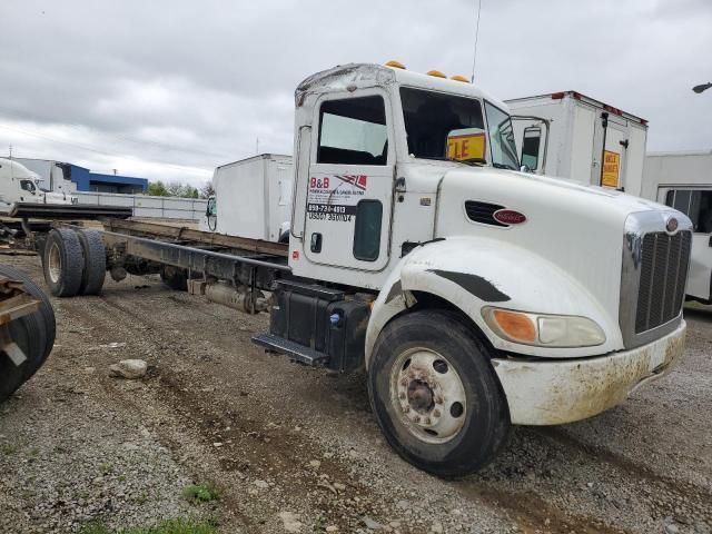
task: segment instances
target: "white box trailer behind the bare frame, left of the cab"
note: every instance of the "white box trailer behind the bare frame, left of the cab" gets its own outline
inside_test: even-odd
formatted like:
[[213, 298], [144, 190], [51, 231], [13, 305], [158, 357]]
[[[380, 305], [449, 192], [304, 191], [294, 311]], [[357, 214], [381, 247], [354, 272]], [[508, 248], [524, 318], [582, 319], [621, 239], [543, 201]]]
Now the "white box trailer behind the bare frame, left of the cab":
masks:
[[291, 156], [261, 154], [221, 165], [212, 175], [215, 197], [204, 231], [286, 243], [291, 216]]

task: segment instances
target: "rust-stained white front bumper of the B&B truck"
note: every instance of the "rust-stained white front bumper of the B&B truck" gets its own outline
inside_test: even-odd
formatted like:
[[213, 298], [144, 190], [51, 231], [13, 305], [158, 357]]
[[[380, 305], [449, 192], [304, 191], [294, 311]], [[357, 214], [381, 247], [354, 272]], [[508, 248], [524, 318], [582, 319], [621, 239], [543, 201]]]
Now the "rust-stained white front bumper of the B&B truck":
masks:
[[621, 404], [660, 378], [684, 350], [686, 324], [660, 339], [606, 356], [537, 362], [495, 358], [494, 370], [516, 425], [558, 425]]

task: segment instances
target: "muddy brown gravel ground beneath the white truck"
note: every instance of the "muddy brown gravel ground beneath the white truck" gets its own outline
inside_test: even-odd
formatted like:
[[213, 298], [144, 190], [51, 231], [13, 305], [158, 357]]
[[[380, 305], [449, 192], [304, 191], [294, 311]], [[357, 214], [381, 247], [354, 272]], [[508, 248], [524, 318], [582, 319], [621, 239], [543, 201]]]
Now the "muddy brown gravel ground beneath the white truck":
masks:
[[[2, 260], [42, 281], [37, 257]], [[225, 533], [712, 533], [710, 312], [688, 313], [670, 376], [599, 417], [516, 428], [485, 471], [444, 482], [392, 453], [364, 376], [254, 346], [266, 316], [147, 277], [53, 304], [52, 355], [0, 406], [0, 532], [192, 516]], [[110, 377], [125, 358], [148, 375]], [[204, 482], [218, 501], [182, 497]]]

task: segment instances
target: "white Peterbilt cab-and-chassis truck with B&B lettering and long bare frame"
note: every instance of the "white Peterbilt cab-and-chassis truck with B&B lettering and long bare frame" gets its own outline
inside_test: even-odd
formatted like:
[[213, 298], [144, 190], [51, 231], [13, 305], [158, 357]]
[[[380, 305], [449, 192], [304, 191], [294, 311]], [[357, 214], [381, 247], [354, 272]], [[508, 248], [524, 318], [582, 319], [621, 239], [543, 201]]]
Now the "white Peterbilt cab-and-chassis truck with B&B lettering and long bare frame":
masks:
[[288, 244], [119, 221], [106, 258], [82, 263], [77, 237], [52, 230], [52, 293], [100, 265], [269, 312], [255, 343], [365, 368], [387, 441], [441, 476], [483, 466], [511, 425], [622, 403], [682, 354], [683, 214], [520, 172], [506, 105], [463, 78], [339, 66], [295, 105]]

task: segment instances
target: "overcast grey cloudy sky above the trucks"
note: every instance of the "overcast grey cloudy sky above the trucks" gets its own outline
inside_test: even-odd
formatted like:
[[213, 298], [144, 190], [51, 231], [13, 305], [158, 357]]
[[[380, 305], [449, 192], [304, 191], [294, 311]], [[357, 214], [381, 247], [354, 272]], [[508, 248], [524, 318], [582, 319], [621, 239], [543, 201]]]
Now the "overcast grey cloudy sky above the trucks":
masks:
[[[477, 0], [0, 0], [0, 155], [200, 185], [291, 154], [293, 92], [346, 62], [469, 76]], [[712, 0], [482, 0], [475, 82], [575, 89], [712, 149]]]

